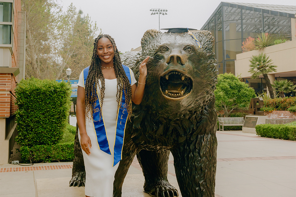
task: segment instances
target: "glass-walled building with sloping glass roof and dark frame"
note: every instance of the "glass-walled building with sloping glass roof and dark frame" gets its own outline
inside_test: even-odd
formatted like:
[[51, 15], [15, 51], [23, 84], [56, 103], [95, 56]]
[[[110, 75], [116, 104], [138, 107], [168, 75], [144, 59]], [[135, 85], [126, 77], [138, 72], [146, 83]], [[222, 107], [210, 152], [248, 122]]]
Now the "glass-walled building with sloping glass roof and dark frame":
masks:
[[[291, 18], [295, 19], [295, 14], [296, 6], [221, 2], [201, 28], [215, 37], [218, 74], [235, 74], [236, 55], [242, 53], [242, 42], [248, 37], [265, 32], [291, 40]], [[258, 89], [263, 90], [261, 80]]]

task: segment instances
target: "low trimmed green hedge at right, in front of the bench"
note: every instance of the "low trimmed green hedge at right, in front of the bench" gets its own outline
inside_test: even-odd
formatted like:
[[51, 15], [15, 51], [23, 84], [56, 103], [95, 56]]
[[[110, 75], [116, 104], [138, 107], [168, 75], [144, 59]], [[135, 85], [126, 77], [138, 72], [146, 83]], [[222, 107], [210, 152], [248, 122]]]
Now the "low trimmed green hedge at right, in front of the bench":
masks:
[[296, 122], [284, 125], [261, 124], [256, 125], [255, 129], [261, 137], [296, 140]]

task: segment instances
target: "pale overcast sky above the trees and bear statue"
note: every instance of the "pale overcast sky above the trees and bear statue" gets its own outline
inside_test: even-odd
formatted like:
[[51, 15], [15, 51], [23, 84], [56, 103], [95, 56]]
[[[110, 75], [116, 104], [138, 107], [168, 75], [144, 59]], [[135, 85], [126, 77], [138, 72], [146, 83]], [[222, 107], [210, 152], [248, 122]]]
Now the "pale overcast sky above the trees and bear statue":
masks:
[[[111, 35], [121, 52], [141, 45], [141, 38], [148, 29], [158, 30], [158, 15], [150, 9], [167, 9], [160, 15], [160, 29], [188, 27], [200, 30], [221, 1], [218, 0], [58, 0], [66, 11], [71, 3], [89, 14], [92, 21]], [[296, 6], [296, 0], [236, 0], [234, 2]], [[166, 32], [165, 30], [160, 30]], [[99, 32], [97, 32], [99, 33]]]

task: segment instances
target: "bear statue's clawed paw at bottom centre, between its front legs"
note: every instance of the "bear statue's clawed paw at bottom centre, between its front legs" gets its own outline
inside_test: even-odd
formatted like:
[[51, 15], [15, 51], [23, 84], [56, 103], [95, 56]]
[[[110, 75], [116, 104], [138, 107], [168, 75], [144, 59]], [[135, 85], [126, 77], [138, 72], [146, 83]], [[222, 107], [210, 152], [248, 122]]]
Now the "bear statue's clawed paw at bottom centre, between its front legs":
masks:
[[144, 192], [155, 197], [179, 196], [178, 191], [166, 180], [157, 180], [153, 184], [144, 184]]

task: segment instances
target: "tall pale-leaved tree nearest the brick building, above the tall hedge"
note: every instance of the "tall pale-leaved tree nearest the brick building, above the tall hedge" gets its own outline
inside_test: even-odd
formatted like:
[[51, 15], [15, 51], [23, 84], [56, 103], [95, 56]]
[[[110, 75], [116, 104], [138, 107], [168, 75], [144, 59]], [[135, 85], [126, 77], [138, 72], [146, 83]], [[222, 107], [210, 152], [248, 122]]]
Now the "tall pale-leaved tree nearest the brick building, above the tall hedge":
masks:
[[50, 38], [61, 7], [54, 0], [23, 0], [26, 12], [26, 77], [53, 78]]

